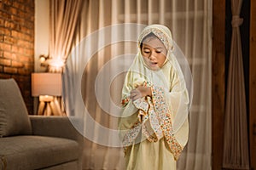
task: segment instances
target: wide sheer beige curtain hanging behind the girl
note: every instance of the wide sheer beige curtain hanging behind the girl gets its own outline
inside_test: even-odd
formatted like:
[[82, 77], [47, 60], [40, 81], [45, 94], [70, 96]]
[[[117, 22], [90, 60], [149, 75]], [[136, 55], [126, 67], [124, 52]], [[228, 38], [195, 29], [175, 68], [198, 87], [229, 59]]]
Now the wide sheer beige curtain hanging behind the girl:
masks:
[[[122, 148], [100, 144], [98, 139], [104, 134], [101, 127], [94, 125], [117, 128], [118, 116], [112, 115], [115, 108], [102, 103], [112, 101], [119, 105], [125, 68], [137, 54], [136, 40], [142, 26], [148, 24], [164, 24], [172, 30], [174, 41], [189, 61], [194, 80], [189, 144], [177, 168], [211, 169], [212, 1], [84, 0], [81, 8], [81, 20], [77, 23], [73, 49], [64, 71], [64, 94], [69, 116], [81, 114], [83, 111], [78, 110], [81, 105], [85, 105], [89, 113], [82, 114], [85, 131], [90, 131], [93, 136], [92, 139], [84, 138], [84, 169], [124, 169]], [[139, 26], [122, 25], [127, 23]], [[102, 47], [102, 43], [107, 45]], [[113, 77], [119, 69], [124, 72]], [[103, 82], [111, 82], [110, 85], [97, 83], [98, 77], [102, 77]], [[110, 96], [105, 94], [106, 91]], [[80, 95], [83, 102], [79, 101]], [[110, 143], [112, 137], [106, 138]]]

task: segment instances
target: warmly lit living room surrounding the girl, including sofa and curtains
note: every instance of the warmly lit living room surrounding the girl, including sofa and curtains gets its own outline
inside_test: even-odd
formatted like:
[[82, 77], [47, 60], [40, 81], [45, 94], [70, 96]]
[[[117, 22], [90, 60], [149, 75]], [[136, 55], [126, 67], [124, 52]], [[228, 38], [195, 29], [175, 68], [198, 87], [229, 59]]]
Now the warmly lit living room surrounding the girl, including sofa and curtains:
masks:
[[256, 169], [255, 1], [1, 0], [0, 19], [0, 169], [125, 169], [122, 88], [153, 24], [189, 77], [177, 169]]

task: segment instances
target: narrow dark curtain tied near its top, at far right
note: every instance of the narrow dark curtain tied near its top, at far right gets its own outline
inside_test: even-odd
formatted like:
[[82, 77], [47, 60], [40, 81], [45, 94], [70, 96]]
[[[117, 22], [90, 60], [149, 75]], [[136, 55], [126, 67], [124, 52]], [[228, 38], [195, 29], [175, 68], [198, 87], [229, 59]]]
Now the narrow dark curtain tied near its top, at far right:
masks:
[[242, 0], [231, 1], [232, 39], [230, 68], [224, 120], [223, 166], [231, 169], [249, 169], [247, 108], [244, 86], [241, 35], [239, 26]]

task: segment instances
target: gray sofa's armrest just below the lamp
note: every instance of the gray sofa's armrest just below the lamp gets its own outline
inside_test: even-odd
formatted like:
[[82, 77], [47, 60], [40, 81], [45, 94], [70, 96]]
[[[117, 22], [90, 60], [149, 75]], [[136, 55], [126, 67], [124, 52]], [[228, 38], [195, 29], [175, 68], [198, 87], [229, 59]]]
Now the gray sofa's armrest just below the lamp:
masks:
[[73, 139], [79, 144], [84, 141], [84, 137], [73, 127], [67, 116], [29, 116], [29, 118], [33, 135]]

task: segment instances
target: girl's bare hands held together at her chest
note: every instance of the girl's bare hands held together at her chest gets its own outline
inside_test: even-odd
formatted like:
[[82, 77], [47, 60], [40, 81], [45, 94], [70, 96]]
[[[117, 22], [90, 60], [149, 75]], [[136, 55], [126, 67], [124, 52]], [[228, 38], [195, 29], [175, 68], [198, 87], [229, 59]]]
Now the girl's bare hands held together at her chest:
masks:
[[132, 101], [135, 101], [146, 96], [151, 96], [150, 87], [138, 86], [137, 88], [131, 90], [130, 98]]

